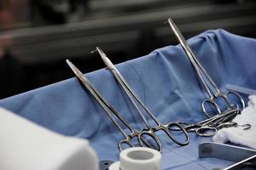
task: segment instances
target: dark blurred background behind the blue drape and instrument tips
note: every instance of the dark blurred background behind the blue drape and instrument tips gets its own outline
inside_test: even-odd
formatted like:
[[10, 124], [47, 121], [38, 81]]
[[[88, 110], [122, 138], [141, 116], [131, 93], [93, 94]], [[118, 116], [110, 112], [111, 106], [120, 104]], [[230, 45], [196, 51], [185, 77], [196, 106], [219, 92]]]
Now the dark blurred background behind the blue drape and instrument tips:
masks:
[[0, 99], [176, 44], [168, 17], [186, 38], [222, 28], [256, 37], [254, 0], [0, 0]]

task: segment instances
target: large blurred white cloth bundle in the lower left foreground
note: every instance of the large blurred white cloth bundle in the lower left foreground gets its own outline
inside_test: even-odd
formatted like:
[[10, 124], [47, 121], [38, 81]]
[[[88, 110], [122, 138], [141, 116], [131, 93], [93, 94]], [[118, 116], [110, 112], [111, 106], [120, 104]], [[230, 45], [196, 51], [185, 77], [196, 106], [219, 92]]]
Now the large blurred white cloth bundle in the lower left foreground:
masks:
[[98, 170], [84, 139], [53, 133], [0, 108], [1, 170]]

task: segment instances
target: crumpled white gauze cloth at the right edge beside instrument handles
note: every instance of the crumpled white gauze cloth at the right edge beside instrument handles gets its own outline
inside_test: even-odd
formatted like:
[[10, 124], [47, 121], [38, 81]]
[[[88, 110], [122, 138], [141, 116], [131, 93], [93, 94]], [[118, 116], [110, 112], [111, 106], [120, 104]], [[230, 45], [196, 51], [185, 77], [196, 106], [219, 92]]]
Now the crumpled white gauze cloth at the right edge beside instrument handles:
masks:
[[213, 142], [241, 144], [256, 150], [256, 96], [249, 96], [247, 108], [241, 111], [241, 115], [236, 116], [233, 122], [238, 125], [251, 124], [251, 128], [244, 130], [244, 127], [222, 128], [212, 138]]

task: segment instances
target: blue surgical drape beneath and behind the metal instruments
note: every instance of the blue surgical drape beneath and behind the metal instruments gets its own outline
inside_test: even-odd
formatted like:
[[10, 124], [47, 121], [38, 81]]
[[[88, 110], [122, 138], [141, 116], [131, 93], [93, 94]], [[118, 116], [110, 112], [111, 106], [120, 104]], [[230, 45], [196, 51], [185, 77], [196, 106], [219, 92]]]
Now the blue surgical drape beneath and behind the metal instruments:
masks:
[[[216, 30], [191, 38], [189, 45], [219, 88], [224, 90], [227, 83], [256, 87], [254, 39]], [[180, 45], [159, 48], [116, 66], [161, 122], [198, 122], [206, 118], [201, 102], [207, 92]], [[102, 69], [86, 77], [132, 127], [144, 126], [110, 71]], [[117, 143], [122, 134], [95, 99], [81, 88], [77, 78], [2, 99], [0, 105], [57, 133], [89, 139], [100, 160], [119, 159]], [[212, 169], [230, 165], [229, 161], [198, 158], [198, 144], [212, 139], [192, 133], [189, 136], [189, 145], [180, 147], [160, 134], [164, 145], [163, 169]]]

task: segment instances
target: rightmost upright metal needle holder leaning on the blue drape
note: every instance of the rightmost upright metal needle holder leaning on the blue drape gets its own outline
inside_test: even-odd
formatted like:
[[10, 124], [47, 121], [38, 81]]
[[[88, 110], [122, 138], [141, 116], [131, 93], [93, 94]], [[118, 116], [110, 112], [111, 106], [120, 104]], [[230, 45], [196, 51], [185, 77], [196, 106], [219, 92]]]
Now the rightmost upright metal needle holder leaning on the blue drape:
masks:
[[[201, 106], [204, 114], [207, 117], [211, 117], [210, 114], [207, 112], [206, 104], [210, 104], [213, 106], [213, 108], [218, 112], [218, 114], [221, 114], [222, 111], [218, 105], [214, 101], [214, 99], [224, 99], [225, 103], [227, 104], [227, 110], [232, 110], [234, 108], [239, 108], [239, 105], [234, 105], [230, 102], [229, 96], [234, 95], [237, 99], [240, 100], [241, 108], [240, 110], [245, 108], [244, 100], [241, 98], [241, 95], [237, 94], [234, 91], [227, 91], [225, 94], [220, 91], [218, 86], [215, 82], [213, 82], [212, 78], [207, 74], [207, 71], [204, 69], [204, 67], [200, 64], [200, 62], [196, 59], [195, 54], [193, 54], [191, 48], [189, 48], [188, 42], [186, 42], [185, 38], [183, 37], [181, 31], [178, 30], [175, 23], [172, 21], [172, 19], [168, 19], [169, 25], [172, 27], [172, 31], [174, 32], [175, 36], [177, 37], [177, 40], [180, 42], [181, 46], [183, 47], [183, 50], [188, 55], [189, 60], [191, 61], [191, 64], [194, 66], [196, 74], [198, 78], [201, 80], [202, 84], [207, 90], [207, 94], [209, 94], [209, 98], [205, 99]], [[207, 83], [208, 82], [208, 83]], [[214, 88], [216, 93], [212, 93], [211, 88]]]

